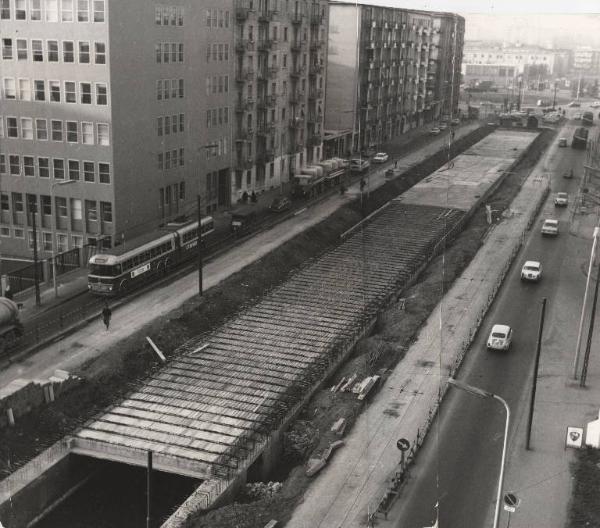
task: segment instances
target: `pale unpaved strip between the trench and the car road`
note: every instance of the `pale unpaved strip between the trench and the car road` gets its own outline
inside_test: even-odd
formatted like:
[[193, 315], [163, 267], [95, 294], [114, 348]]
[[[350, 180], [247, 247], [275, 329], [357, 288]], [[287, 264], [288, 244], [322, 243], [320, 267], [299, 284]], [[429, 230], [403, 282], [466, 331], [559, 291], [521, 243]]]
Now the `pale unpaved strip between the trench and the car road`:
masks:
[[[547, 192], [542, 171], [538, 166], [530, 175], [511, 204], [515, 214], [490, 232], [429, 316], [417, 341], [360, 415], [344, 439], [344, 447], [312, 483], [286, 527], [367, 526], [368, 515], [377, 511], [398, 469], [396, 441], [406, 438], [413, 447], [422, 442], [435, 415], [440, 387], [446, 390], [445, 380], [458, 368], [521, 246]], [[386, 412], [390, 408], [395, 414]], [[390, 519], [393, 517], [391, 513]], [[392, 527], [394, 523], [379, 515], [377, 526]]]

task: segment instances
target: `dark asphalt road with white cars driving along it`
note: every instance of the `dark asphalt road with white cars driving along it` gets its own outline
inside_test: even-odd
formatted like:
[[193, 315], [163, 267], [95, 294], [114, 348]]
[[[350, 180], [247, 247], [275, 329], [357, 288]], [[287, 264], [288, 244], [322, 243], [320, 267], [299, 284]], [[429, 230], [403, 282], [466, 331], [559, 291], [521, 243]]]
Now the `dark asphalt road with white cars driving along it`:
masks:
[[[572, 135], [568, 131], [564, 133]], [[579, 179], [565, 180], [562, 173], [571, 165], [581, 174], [584, 152], [558, 149], [548, 156], [546, 166], [553, 173], [553, 191], [568, 191], [574, 197]], [[552, 197], [543, 216], [561, 221], [557, 239], [539, 234], [540, 221], [532, 229], [514, 269], [508, 274], [480, 334], [476, 337], [460, 378], [504, 397], [514, 414], [513, 424], [527, 412], [530, 373], [537, 339], [540, 300], [548, 299], [545, 336], [560, 324], [560, 310], [577, 312], [580, 298], [569, 297], [570, 304], [554, 306], [562, 291], [578, 291], [580, 274], [566, 273], [573, 267], [569, 258], [573, 237], [568, 235], [570, 210], [554, 210]], [[570, 209], [570, 208], [569, 208]], [[578, 241], [584, 243], [584, 241]], [[523, 284], [520, 267], [525, 260], [540, 260], [544, 278], [540, 284]], [[574, 289], [575, 288], [575, 289]], [[564, 318], [563, 318], [564, 319]], [[485, 341], [492, 324], [513, 327], [515, 342], [510, 352], [487, 352]], [[465, 528], [486, 526], [493, 510], [504, 428], [504, 411], [494, 401], [481, 400], [460, 391], [450, 391], [442, 405], [440, 419], [431, 429], [429, 439], [419, 453], [412, 483], [400, 500], [396, 525], [402, 528], [432, 524], [434, 506], [440, 504], [440, 526]], [[514, 427], [512, 433], [514, 434]], [[511, 441], [511, 444], [513, 441]], [[509, 444], [509, 449], [511, 448]]]

